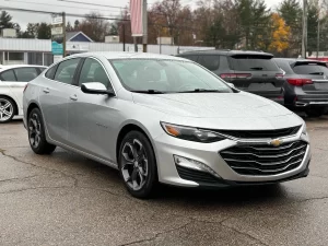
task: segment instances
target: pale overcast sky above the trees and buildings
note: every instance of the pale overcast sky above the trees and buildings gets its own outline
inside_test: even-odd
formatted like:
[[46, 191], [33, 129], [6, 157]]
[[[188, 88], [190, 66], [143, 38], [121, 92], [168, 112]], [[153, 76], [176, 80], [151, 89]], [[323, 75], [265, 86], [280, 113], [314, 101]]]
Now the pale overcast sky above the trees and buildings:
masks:
[[[71, 2], [69, 2], [71, 1]], [[78, 2], [92, 2], [94, 5], [90, 4], [81, 4], [74, 3]], [[198, 0], [181, 0], [181, 4], [190, 4], [195, 7]], [[148, 4], [157, 2], [157, 0], [148, 0]], [[278, 0], [266, 0], [268, 7], [276, 8]], [[103, 14], [104, 16], [115, 17], [120, 13], [120, 8], [128, 5], [129, 0], [0, 0], [0, 10], [1, 8], [20, 8], [20, 9], [31, 9], [31, 10], [42, 10], [42, 11], [54, 11], [54, 12], [67, 12], [72, 14], [86, 14], [91, 11], [96, 11]], [[96, 5], [99, 4], [99, 5]], [[116, 8], [109, 7], [101, 7], [101, 4], [112, 5]], [[32, 22], [48, 22], [50, 23], [49, 14], [35, 14], [35, 13], [26, 13], [26, 12], [16, 12], [12, 10], [8, 10], [8, 12], [13, 16], [13, 21], [19, 23], [22, 30], [25, 30], [26, 24]], [[77, 17], [68, 17], [68, 21], [71, 23], [74, 22]]]

